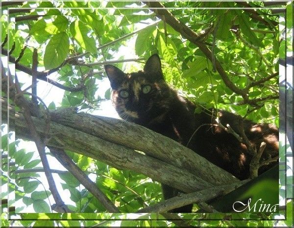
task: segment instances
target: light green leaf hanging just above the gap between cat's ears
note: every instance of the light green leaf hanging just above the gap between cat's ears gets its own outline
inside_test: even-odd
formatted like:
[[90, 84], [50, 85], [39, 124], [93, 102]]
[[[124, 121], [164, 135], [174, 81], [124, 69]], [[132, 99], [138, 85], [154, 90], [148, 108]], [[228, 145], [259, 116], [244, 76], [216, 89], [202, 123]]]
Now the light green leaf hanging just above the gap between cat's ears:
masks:
[[147, 50], [148, 41], [154, 40], [153, 32], [155, 29], [156, 25], [152, 25], [138, 33], [135, 43], [135, 51], [138, 56], [142, 55]]

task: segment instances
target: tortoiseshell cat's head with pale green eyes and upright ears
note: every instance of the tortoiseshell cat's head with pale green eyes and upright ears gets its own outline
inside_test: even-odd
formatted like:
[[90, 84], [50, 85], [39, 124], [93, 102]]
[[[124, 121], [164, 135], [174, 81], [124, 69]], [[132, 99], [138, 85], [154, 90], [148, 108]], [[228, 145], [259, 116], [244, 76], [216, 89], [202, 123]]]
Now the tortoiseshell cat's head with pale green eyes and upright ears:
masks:
[[148, 123], [160, 119], [171, 108], [173, 90], [164, 81], [157, 54], [147, 60], [143, 71], [125, 74], [119, 68], [105, 65], [112, 88], [111, 100], [122, 119]]

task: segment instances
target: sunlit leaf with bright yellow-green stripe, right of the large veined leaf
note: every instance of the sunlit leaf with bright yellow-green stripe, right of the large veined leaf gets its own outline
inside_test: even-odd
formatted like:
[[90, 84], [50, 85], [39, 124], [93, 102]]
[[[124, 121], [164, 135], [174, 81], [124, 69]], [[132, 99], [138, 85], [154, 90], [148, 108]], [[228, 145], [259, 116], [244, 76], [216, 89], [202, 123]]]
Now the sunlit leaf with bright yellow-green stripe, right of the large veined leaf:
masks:
[[74, 21], [70, 25], [70, 31], [81, 48], [92, 53], [97, 52], [95, 39], [89, 36], [88, 33], [91, 32], [91, 30], [86, 25], [80, 21]]

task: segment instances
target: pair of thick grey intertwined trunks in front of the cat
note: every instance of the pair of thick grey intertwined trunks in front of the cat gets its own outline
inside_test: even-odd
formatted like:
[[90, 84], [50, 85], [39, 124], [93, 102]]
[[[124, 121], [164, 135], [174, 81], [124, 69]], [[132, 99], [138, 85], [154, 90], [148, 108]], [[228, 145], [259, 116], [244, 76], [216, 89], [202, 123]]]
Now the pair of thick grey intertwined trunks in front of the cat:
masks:
[[[7, 100], [1, 98], [1, 102], [5, 107]], [[14, 110], [11, 105], [9, 108]], [[118, 169], [142, 173], [184, 192], [239, 182], [195, 152], [145, 127], [63, 109], [50, 113], [50, 128], [46, 132], [45, 113], [39, 110], [31, 114], [39, 134], [49, 136], [46, 145], [77, 152]], [[7, 118], [7, 110], [2, 109], [2, 115]], [[15, 123], [10, 127], [15, 127], [16, 137], [31, 140], [23, 115], [10, 112], [9, 118], [10, 123]]]

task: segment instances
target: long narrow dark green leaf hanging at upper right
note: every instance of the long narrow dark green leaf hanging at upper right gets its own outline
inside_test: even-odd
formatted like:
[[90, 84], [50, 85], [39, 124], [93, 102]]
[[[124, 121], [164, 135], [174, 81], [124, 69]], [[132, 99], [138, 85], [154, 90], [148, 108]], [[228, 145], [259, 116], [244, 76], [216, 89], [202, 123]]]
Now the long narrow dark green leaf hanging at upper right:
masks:
[[243, 34], [247, 37], [248, 42], [254, 46], [264, 47], [263, 43], [257, 38], [255, 33], [251, 30], [250, 22], [248, 17], [245, 17], [245, 14], [236, 10], [239, 20], [239, 25]]

